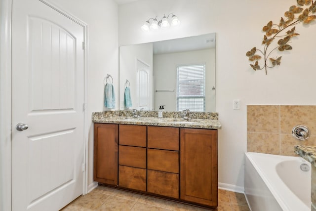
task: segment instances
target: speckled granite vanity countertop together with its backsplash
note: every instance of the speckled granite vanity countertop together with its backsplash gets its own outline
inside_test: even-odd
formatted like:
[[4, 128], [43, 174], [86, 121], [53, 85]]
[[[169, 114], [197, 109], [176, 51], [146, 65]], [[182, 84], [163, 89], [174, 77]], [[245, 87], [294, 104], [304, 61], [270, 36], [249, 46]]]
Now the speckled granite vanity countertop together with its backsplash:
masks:
[[[157, 115], [156, 115], [156, 114]], [[111, 124], [125, 124], [125, 125], [148, 125], [148, 126], [166, 126], [166, 127], [190, 127], [190, 128], [205, 128], [205, 129], [221, 129], [221, 123], [218, 121], [218, 114], [214, 113], [197, 112], [204, 114], [190, 113], [190, 119], [181, 119], [181, 112], [168, 112], [171, 114], [166, 115], [164, 118], [158, 118], [157, 112], [139, 112], [141, 117], [132, 117], [131, 111], [109, 111], [109, 112], [96, 112], [93, 113], [92, 121], [94, 123], [111, 123]], [[152, 117], [154, 116], [154, 117]], [[168, 118], [167, 118], [167, 117]], [[199, 117], [199, 118], [193, 118]], [[207, 118], [206, 118], [207, 117]], [[217, 117], [216, 119], [211, 119]]]

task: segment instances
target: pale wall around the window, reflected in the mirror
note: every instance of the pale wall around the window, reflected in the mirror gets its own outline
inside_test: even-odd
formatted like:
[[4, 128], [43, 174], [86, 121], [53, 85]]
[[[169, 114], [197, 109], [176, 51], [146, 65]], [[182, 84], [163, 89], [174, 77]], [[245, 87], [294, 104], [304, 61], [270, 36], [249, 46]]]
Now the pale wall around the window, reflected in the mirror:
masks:
[[[215, 48], [154, 55], [155, 90], [177, 90], [179, 65], [205, 64], [205, 111], [215, 111]], [[164, 105], [165, 111], [177, 110], [177, 93], [154, 92], [155, 110]]]

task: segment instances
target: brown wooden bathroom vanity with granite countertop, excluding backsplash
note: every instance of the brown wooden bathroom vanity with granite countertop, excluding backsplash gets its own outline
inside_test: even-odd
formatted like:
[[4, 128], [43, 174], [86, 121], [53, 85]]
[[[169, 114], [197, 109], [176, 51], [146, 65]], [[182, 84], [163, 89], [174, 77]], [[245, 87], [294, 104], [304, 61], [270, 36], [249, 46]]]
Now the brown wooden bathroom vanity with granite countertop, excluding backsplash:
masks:
[[217, 207], [218, 120], [103, 114], [93, 117], [95, 181]]

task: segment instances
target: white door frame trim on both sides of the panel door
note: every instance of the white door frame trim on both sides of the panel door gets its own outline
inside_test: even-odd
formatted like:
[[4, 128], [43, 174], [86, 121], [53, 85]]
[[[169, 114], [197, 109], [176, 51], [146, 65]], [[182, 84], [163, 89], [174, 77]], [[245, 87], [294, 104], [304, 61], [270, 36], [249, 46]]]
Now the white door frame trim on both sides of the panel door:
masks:
[[[70, 12], [54, 5], [50, 0], [40, 0], [59, 13], [78, 23], [84, 29], [84, 104], [86, 105], [87, 92], [87, 48], [88, 25]], [[11, 211], [11, 25], [12, 25], [12, 0], [1, 0], [0, 5], [0, 211]], [[88, 119], [84, 111], [84, 161], [85, 174], [83, 194], [88, 192]]]

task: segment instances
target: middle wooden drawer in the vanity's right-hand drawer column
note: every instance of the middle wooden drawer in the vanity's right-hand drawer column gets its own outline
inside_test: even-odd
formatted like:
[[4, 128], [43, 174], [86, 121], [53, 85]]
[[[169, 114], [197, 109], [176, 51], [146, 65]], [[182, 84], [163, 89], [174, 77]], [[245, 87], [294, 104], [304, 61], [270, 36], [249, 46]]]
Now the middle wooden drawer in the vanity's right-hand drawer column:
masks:
[[179, 173], [179, 152], [147, 149], [147, 168]]

